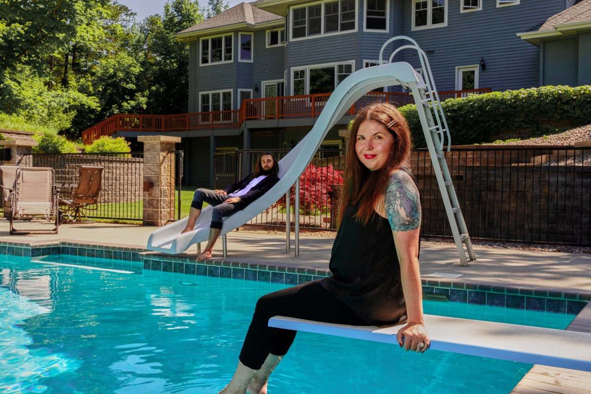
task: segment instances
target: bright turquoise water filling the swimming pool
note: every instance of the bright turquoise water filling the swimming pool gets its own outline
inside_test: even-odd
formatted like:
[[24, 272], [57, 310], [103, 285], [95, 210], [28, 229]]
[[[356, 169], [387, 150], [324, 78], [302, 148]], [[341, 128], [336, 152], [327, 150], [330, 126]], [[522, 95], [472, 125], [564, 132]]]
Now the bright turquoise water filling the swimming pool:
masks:
[[[129, 261], [50, 261], [60, 265], [0, 255], [0, 393], [217, 393], [256, 299], [285, 287], [142, 271]], [[91, 267], [71, 266], [80, 264]], [[436, 301], [425, 308], [553, 328], [574, 317]], [[505, 394], [530, 367], [299, 333], [269, 393]]]

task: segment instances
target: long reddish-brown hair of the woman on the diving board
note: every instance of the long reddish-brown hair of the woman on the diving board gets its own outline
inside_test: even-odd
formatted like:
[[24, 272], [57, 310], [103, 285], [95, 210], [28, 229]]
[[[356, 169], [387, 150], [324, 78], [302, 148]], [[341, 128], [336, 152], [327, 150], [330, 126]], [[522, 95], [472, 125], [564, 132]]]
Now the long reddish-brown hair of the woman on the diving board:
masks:
[[[386, 165], [378, 171], [369, 171], [359, 161], [355, 152], [357, 131], [361, 123], [381, 123], [394, 136], [394, 144]], [[404, 116], [389, 103], [378, 103], [363, 108], [353, 121], [345, 154], [345, 177], [339, 202], [339, 218], [350, 205], [358, 206], [356, 217], [368, 223], [374, 214], [374, 206], [384, 197], [390, 174], [408, 165], [411, 155], [411, 135]]]

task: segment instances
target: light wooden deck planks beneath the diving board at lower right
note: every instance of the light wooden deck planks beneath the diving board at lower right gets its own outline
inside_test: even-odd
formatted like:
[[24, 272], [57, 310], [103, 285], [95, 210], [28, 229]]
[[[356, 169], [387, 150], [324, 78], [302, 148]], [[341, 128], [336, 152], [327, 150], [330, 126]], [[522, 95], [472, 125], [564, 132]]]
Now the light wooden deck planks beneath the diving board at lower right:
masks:
[[[591, 303], [566, 328], [591, 333]], [[511, 394], [591, 394], [591, 372], [534, 365]]]

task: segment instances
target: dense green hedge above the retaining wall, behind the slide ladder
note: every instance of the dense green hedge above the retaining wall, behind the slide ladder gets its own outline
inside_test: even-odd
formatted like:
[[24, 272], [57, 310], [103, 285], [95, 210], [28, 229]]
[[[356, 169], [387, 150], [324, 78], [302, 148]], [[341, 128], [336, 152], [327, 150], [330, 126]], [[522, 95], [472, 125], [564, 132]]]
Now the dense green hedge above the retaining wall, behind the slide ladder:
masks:
[[[591, 123], [591, 86], [492, 92], [448, 99], [441, 107], [453, 145], [492, 142], [499, 135], [538, 137]], [[426, 146], [416, 106], [399, 109], [413, 133], [415, 148]]]

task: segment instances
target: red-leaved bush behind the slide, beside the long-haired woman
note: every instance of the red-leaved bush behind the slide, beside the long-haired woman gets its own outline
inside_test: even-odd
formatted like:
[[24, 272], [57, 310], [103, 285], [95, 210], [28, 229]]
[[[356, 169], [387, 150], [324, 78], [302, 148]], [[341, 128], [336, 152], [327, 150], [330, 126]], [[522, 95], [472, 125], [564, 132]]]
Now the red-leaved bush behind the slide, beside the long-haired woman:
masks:
[[[327, 167], [316, 167], [309, 164], [300, 176], [300, 214], [318, 215], [328, 214], [332, 204], [330, 203], [329, 192], [332, 192], [333, 184], [342, 184], [341, 171], [335, 170], [332, 165]], [[291, 204], [296, 198], [296, 188], [291, 188]], [[280, 210], [286, 211], [285, 197], [277, 201]]]

